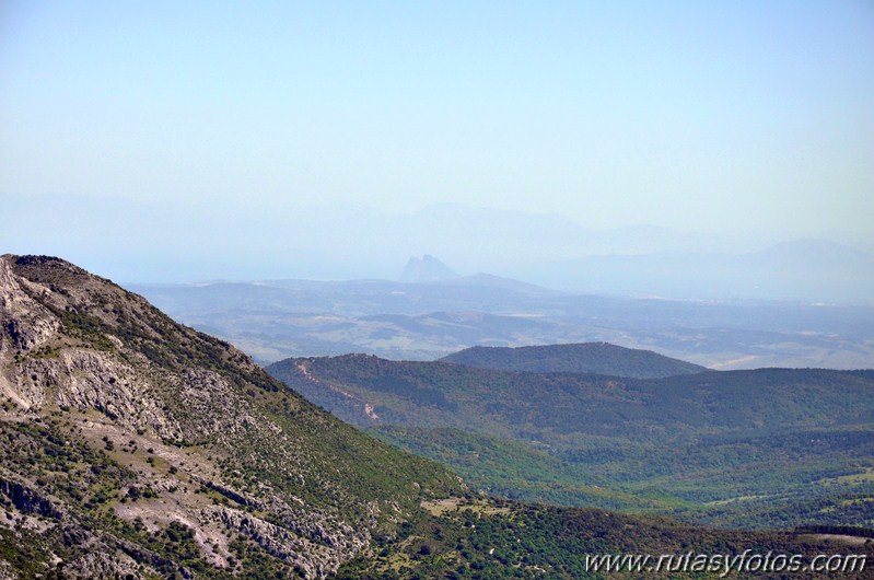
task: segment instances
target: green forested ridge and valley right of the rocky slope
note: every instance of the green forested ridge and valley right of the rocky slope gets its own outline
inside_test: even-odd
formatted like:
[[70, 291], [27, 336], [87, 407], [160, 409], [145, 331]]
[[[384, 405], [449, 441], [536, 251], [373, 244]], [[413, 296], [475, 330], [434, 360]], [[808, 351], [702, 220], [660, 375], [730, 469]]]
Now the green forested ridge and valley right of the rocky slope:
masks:
[[874, 524], [874, 371], [643, 380], [363, 355], [267, 370], [504, 497], [727, 526]]

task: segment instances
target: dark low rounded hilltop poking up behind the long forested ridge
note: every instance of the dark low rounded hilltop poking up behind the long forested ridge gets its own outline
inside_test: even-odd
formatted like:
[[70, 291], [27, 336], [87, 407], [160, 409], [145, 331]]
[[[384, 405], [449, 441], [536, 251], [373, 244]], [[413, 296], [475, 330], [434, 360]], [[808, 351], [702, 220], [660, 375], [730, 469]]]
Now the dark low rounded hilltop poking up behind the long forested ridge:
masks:
[[608, 343], [517, 348], [471, 347], [440, 360], [480, 369], [610, 374], [633, 379], [659, 379], [707, 370], [651, 350], [624, 348]]

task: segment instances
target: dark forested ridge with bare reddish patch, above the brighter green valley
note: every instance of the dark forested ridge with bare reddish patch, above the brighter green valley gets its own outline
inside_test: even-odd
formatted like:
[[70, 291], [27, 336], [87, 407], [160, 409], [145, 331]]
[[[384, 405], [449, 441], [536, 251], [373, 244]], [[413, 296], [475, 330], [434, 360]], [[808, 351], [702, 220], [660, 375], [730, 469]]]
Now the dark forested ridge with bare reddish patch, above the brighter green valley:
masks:
[[451, 426], [520, 437], [533, 427], [550, 444], [573, 432], [649, 441], [700, 430], [874, 422], [874, 371], [760, 369], [641, 380], [366, 355], [287, 359], [267, 371], [356, 425]]

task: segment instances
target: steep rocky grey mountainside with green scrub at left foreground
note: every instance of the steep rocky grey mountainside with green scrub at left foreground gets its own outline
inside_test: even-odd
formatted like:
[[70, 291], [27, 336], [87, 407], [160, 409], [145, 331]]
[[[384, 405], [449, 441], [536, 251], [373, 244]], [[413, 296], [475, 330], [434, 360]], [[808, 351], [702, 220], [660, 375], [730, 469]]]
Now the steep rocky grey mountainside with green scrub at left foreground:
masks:
[[58, 258], [0, 257], [0, 562], [23, 577], [321, 578], [463, 491]]

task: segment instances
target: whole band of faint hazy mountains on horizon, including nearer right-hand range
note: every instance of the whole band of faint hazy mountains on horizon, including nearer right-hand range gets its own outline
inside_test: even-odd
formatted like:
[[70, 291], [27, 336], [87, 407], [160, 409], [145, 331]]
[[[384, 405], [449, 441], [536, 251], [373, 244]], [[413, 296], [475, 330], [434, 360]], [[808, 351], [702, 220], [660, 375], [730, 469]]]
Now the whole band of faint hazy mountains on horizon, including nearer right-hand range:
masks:
[[[39, 229], [32, 227], [34, 206], [43, 208]], [[461, 275], [490, 272], [575, 293], [824, 303], [870, 303], [874, 295], [872, 241], [849, 245], [843, 240], [852, 239], [837, 234], [840, 243], [652, 225], [598, 230], [560, 214], [451, 204], [386, 213], [43, 196], [13, 198], [3, 210], [10, 248], [62, 247], [125, 281], [396, 279], [410, 254], [428, 254]], [[95, 216], [100, 231], [69, 227]], [[140, 223], [163, 223], [178, 235]]]

